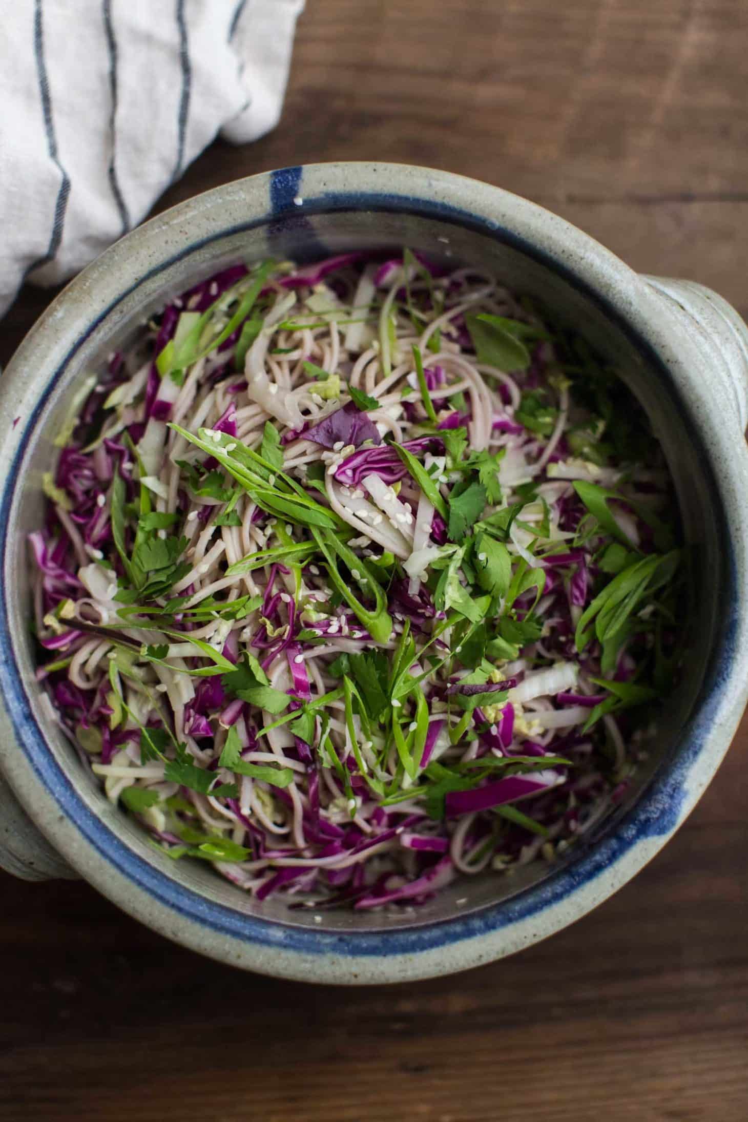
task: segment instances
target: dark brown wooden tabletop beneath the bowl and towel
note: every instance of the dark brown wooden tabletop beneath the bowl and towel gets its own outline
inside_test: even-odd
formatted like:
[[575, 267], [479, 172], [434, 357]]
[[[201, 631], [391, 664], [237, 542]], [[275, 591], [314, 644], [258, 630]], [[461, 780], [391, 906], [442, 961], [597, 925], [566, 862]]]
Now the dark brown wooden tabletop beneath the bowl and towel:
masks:
[[[308, 0], [283, 123], [159, 205], [316, 159], [473, 175], [744, 314], [745, 0]], [[7, 358], [48, 294], [3, 324]], [[151, 935], [80, 883], [0, 877], [0, 1119], [745, 1122], [748, 724], [652, 865], [467, 975], [312, 988]]]

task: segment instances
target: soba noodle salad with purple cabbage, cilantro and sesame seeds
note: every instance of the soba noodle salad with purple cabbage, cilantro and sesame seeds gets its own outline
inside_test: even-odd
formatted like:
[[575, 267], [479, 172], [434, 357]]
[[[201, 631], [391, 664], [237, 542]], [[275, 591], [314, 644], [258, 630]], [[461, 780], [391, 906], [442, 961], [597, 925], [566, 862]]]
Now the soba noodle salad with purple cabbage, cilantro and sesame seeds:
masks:
[[615, 371], [493, 276], [228, 268], [57, 442], [38, 679], [169, 857], [403, 908], [624, 798], [677, 670], [669, 479]]

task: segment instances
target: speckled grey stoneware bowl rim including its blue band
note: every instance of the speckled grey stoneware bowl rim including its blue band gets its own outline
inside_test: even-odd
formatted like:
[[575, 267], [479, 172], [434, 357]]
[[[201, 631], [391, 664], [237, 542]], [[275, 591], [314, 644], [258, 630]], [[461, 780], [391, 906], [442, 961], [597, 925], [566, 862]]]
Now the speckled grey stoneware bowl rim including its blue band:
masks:
[[[386, 184], [382, 190], [381, 184]], [[303, 199], [299, 205], [298, 199]], [[341, 209], [404, 210], [469, 226], [542, 259], [593, 298], [681, 390], [696, 395], [692, 370], [704, 358], [677, 334], [661, 297], [628, 266], [563, 219], [536, 204], [478, 181], [399, 164], [317, 164], [281, 168], [239, 180], [194, 196], [137, 228], [83, 270], [53, 302], [24, 341], [0, 381], [0, 415], [11, 420], [11, 383], [28, 371], [52, 370], [25, 389], [29, 415], [0, 450], [4, 468], [0, 497], [0, 760], [8, 781], [36, 825], [71, 865], [130, 914], [178, 942], [214, 958], [284, 977], [331, 983], [395, 982], [452, 973], [508, 955], [573, 922], [635, 875], [691, 811], [729, 746], [742, 711], [748, 619], [745, 563], [748, 517], [736, 499], [748, 485], [745, 456], [727, 458], [719, 491], [730, 516], [728, 626], [714, 660], [702, 707], [667, 771], [655, 774], [639, 800], [608, 834], [570, 865], [497, 904], [452, 919], [375, 931], [324, 930], [251, 917], [206, 900], [139, 857], [93, 815], [47, 749], [26, 683], [13, 657], [8, 628], [6, 572], [9, 514], [30, 434], [56, 380], [77, 348], [146, 277], [238, 229], [216, 222], [239, 205], [241, 228], [298, 214], [301, 220]], [[227, 219], [224, 219], [224, 222]], [[175, 231], [205, 237], [174, 247]], [[144, 261], [150, 270], [144, 273]], [[102, 287], [102, 280], [108, 283]], [[114, 282], [112, 278], [117, 277]], [[118, 293], [105, 306], [108, 293]], [[19, 386], [13, 387], [16, 397]], [[699, 439], [723, 447], [724, 419], [709, 413], [710, 399], [692, 415]], [[721, 444], [720, 444], [721, 442]], [[29, 683], [30, 684], [30, 683]], [[22, 746], [13, 749], [12, 742]], [[606, 876], [601, 874], [606, 873]]]

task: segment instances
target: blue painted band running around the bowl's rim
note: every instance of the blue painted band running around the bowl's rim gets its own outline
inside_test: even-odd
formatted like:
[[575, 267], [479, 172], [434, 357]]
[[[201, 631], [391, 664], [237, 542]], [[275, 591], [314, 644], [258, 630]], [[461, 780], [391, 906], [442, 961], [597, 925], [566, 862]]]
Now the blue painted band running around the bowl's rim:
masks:
[[[0, 540], [0, 571], [6, 572], [6, 553], [8, 535], [4, 527], [9, 525], [9, 514], [12, 506], [16, 485], [21, 478], [22, 460], [30, 434], [53, 392], [57, 380], [68, 362], [101, 323], [118, 304], [121, 303], [144, 279], [157, 275], [178, 260], [192, 255], [202, 246], [219, 241], [231, 233], [248, 231], [258, 226], [269, 226], [276, 230], [288, 221], [294, 226], [308, 224], [310, 217], [345, 210], [375, 210], [381, 212], [407, 212], [424, 218], [437, 218], [461, 227], [468, 227], [478, 232], [493, 237], [519, 249], [523, 254], [535, 258], [555, 273], [562, 275], [584, 296], [593, 301], [604, 314], [624, 331], [629, 341], [639, 350], [650, 367], [655, 367], [668, 386], [671, 399], [677, 410], [681, 421], [690, 436], [700, 440], [691, 419], [683, 410], [672, 384], [669, 371], [649, 343], [625, 321], [607, 300], [593, 291], [589, 284], [579, 277], [566, 265], [555, 260], [547, 252], [517, 236], [511, 230], [501, 227], [478, 214], [464, 211], [451, 203], [423, 199], [417, 195], [405, 195], [389, 192], [350, 192], [326, 191], [321, 195], [304, 200], [303, 213], [298, 213], [295, 197], [302, 183], [303, 168], [281, 168], [270, 173], [270, 201], [268, 213], [260, 219], [221, 229], [209, 238], [193, 242], [168, 260], [154, 267], [136, 284], [122, 292], [82, 332], [70, 348], [64, 360], [58, 365], [47, 384], [44, 394], [37, 402], [34, 412], [27, 421], [19, 441], [11, 471], [3, 482], [0, 503], [0, 522], [3, 527]], [[320, 252], [324, 254], [320, 243]], [[709, 463], [705, 458], [704, 462]], [[575, 858], [551, 873], [538, 884], [530, 886], [515, 896], [499, 903], [486, 904], [463, 916], [442, 920], [428, 920], [413, 926], [388, 928], [386, 926], [367, 931], [335, 931], [324, 927], [308, 928], [285, 922], [277, 918], [265, 919], [248, 916], [224, 904], [213, 902], [192, 889], [184, 888], [172, 877], [160, 872], [142, 857], [131, 850], [104, 822], [99, 819], [79, 795], [75, 787], [68, 780], [54, 755], [47, 748], [44, 729], [36, 720], [30, 697], [21, 680], [15, 657], [13, 643], [8, 624], [4, 579], [0, 576], [0, 689], [2, 690], [8, 714], [10, 716], [17, 743], [24, 752], [39, 781], [55, 799], [65, 817], [75, 824], [81, 835], [96, 853], [113, 865], [129, 881], [138, 885], [159, 904], [188, 920], [200, 922], [212, 931], [230, 936], [246, 944], [258, 944], [266, 947], [277, 947], [288, 951], [306, 955], [323, 955], [335, 953], [345, 957], [369, 956], [390, 957], [413, 955], [447, 946], [453, 942], [473, 939], [489, 935], [501, 928], [521, 920], [530, 919], [548, 907], [569, 899], [576, 890], [600, 876], [634, 845], [655, 836], [667, 836], [678, 825], [681, 809], [686, 798], [686, 779], [689, 772], [701, 754], [709, 733], [714, 727], [724, 700], [726, 690], [731, 677], [736, 659], [736, 634], [738, 629], [737, 569], [732, 542], [728, 532], [724, 511], [719, 497], [713, 470], [709, 469], [709, 486], [714, 497], [715, 509], [719, 511], [723, 526], [722, 542], [729, 543], [723, 554], [726, 567], [726, 585], [728, 595], [723, 603], [731, 606], [731, 614], [722, 620], [721, 632], [714, 636], [710, 663], [701, 684], [700, 698], [693, 716], [682, 732], [667, 757], [664, 758], [650, 779], [637, 802], [620, 818], [608, 819], [608, 829], [592, 846]], [[603, 893], [604, 894], [604, 893]]]

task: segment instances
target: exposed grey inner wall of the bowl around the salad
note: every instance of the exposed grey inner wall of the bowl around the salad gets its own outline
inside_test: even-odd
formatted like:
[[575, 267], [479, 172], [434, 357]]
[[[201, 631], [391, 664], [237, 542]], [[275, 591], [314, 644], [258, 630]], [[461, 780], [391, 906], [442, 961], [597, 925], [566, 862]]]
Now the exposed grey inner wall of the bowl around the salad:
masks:
[[[34, 652], [28, 637], [30, 618], [29, 565], [26, 535], [41, 523], [41, 475], [49, 470], [57, 449], [55, 434], [67, 412], [71, 395], [91, 371], [102, 370], [107, 355], [137, 343], [142, 323], [165, 300], [211, 275], [223, 265], [237, 260], [257, 260], [268, 255], [294, 260], [310, 260], [352, 249], [398, 249], [403, 246], [422, 250], [431, 257], [453, 264], [470, 264], [496, 273], [510, 288], [526, 293], [541, 302], [552, 321], [582, 334], [601, 358], [613, 366], [641, 402], [654, 433], [661, 441], [668, 461], [681, 506], [684, 536], [698, 546], [693, 551], [698, 564], [693, 572], [693, 596], [689, 611], [693, 634], [699, 642], [691, 651], [683, 681], [658, 721], [647, 764], [631, 785], [626, 800], [583, 842], [569, 850], [566, 864], [573, 864], [607, 831], [615, 828], [658, 769], [678, 753], [687, 735], [689, 716], [698, 706], [709, 675], [712, 652], [719, 637], [720, 620], [717, 589], [723, 555], [719, 550], [722, 511], [713, 485], [709, 457], [700, 447], [684, 403], [678, 401], [669, 376], [645, 344], [634, 338], [622, 320], [585, 289], [569, 267], [544, 258], [532, 247], [497, 230], [487, 234], [462, 221], [436, 219], [399, 210], [335, 209], [286, 220], [268, 219], [246, 227], [220, 231], [198, 245], [176, 246], [169, 264], [149, 268], [144, 257], [141, 279], [123, 292], [109, 311], [95, 323], [86, 321], [85, 293], [81, 297], [81, 333], [66, 359], [49, 369], [43, 404], [29, 423], [22, 453], [16, 465], [16, 476], [9, 518], [3, 532], [9, 542], [6, 573], [12, 595], [8, 596], [9, 624], [15, 636], [15, 657], [20, 678], [26, 683], [39, 725], [45, 729], [48, 749], [65, 775], [80, 792], [85, 806], [119, 839], [144, 862], [191, 889], [198, 896], [216, 901], [238, 913], [264, 917], [284, 923], [315, 927], [313, 916], [305, 910], [288, 911], [283, 902], [267, 900], [256, 903], [239, 889], [223, 881], [197, 862], [172, 862], [150, 848], [145, 834], [124, 813], [104, 798], [92, 773], [84, 770], [62, 734], [49, 719], [48, 702], [34, 679]], [[710, 579], [708, 579], [708, 577]], [[393, 928], [445, 920], [473, 909], [507, 899], [551, 876], [560, 866], [533, 865], [511, 877], [481, 874], [461, 879], [432, 902], [409, 913], [351, 914], [324, 912], [323, 929], [351, 930]]]

